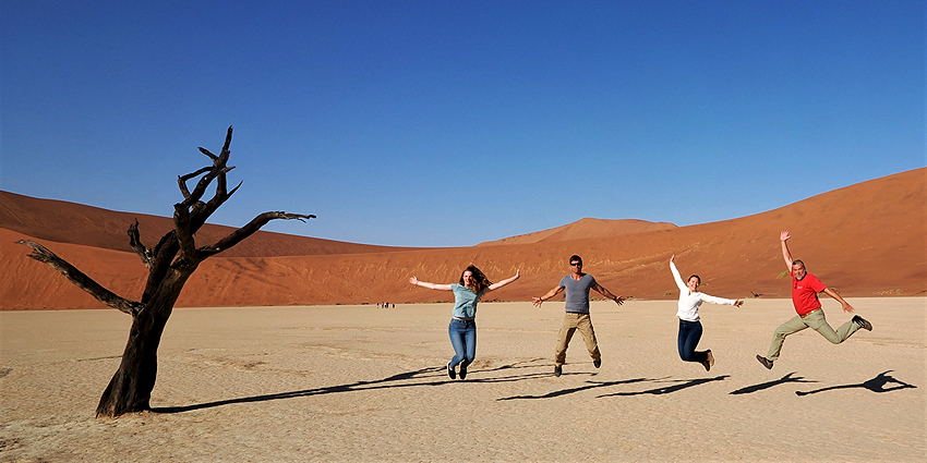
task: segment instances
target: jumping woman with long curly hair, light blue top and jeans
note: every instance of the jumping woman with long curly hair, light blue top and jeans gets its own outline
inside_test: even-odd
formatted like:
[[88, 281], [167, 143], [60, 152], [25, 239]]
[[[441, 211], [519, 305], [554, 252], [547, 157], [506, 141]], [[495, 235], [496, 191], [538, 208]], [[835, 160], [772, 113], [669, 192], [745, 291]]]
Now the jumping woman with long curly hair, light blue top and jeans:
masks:
[[432, 290], [454, 291], [454, 312], [450, 314], [450, 325], [447, 327], [447, 333], [450, 336], [450, 344], [454, 346], [454, 358], [447, 363], [447, 376], [450, 379], [457, 377], [454, 368], [460, 365], [460, 379], [467, 377], [467, 366], [473, 362], [477, 356], [477, 302], [483, 294], [497, 290], [520, 277], [518, 270], [515, 271], [515, 277], [499, 281], [493, 284], [475, 266], [469, 266], [464, 273], [460, 275], [460, 282], [454, 284], [435, 284], [425, 281], [419, 281], [412, 277], [409, 282], [417, 285], [429, 288]]

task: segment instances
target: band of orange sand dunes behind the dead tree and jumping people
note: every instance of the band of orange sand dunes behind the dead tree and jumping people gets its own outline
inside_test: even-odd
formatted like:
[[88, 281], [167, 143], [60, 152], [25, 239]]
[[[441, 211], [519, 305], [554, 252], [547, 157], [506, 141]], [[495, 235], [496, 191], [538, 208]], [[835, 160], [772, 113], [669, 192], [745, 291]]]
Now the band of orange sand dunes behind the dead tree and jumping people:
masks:
[[[245, 256], [222, 254], [207, 259], [188, 282], [178, 306], [450, 301], [449, 292], [414, 288], [408, 279], [417, 276], [424, 281], [456, 282], [469, 264], [479, 266], [493, 281], [510, 277], [520, 269], [522, 278], [519, 281], [492, 293], [489, 300], [527, 301], [553, 288], [567, 273], [567, 258], [571, 254], [582, 256], [586, 271], [616, 294], [638, 298], [676, 297], [677, 290], [669, 270], [670, 255], [676, 254], [679, 270], [700, 275], [706, 293], [724, 297], [788, 297], [788, 280], [781, 276], [785, 265], [779, 244], [779, 232], [784, 229], [792, 231], [794, 236], [790, 241], [792, 254], [805, 260], [808, 271], [844, 296], [925, 295], [925, 185], [927, 168], [922, 168], [733, 220], [681, 228], [665, 223], [624, 223], [643, 228], [636, 232], [616, 223], [623, 221], [583, 219], [594, 227], [580, 221], [571, 224], [574, 232], [564, 233], [570, 228], [567, 226], [472, 247], [395, 248], [317, 240], [325, 242], [325, 246], [313, 251], [306, 245], [300, 251], [301, 255], [286, 255], [286, 244], [275, 239], [284, 243], [286, 240], [312, 243], [314, 239], [264, 233], [261, 239], [268, 240], [270, 244], [266, 246], [277, 254], [268, 252], [269, 256], [261, 256], [264, 244], [255, 246], [252, 242], [253, 248]], [[0, 196], [5, 202], [2, 208], [13, 208], [10, 204], [17, 204], [15, 196]], [[62, 208], [76, 206], [48, 203]], [[89, 211], [100, 216], [86, 220], [80, 215], [69, 216], [72, 218], [62, 224], [51, 206], [44, 207], [47, 209], [41, 215], [32, 209], [35, 217], [21, 220], [40, 229], [0, 229], [0, 266], [5, 277], [0, 279], [0, 308], [104, 307], [49, 266], [27, 258], [29, 249], [13, 242], [27, 236], [56, 236], [49, 230], [58, 229], [65, 230], [71, 237], [84, 235], [89, 230], [80, 226], [89, 222], [115, 223], [112, 229], [117, 230], [123, 221], [119, 233], [124, 236], [136, 215], [81, 206], [86, 208], [87, 217]], [[141, 222], [143, 216], [137, 217]], [[166, 223], [169, 227], [169, 221]], [[599, 229], [602, 227], [599, 226], [615, 230], [610, 235], [601, 235]], [[648, 229], [651, 226], [659, 229]], [[146, 243], [159, 237], [154, 230], [144, 227], [141, 230]], [[112, 234], [115, 236], [116, 231]], [[239, 246], [257, 239], [257, 235], [252, 236]], [[117, 294], [130, 298], [141, 294], [146, 271], [129, 249], [128, 240], [125, 252], [96, 247], [103, 244], [49, 240], [36, 241]], [[210, 242], [204, 233], [197, 233], [197, 240]]]

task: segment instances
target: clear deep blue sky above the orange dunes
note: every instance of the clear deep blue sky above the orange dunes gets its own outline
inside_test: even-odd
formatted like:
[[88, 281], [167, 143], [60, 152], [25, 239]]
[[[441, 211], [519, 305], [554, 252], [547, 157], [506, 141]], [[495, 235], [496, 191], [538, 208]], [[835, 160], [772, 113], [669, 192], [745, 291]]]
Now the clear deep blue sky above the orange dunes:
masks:
[[233, 125], [214, 222], [468, 246], [927, 165], [923, 1], [299, 3], [0, 0], [0, 190], [169, 216]]

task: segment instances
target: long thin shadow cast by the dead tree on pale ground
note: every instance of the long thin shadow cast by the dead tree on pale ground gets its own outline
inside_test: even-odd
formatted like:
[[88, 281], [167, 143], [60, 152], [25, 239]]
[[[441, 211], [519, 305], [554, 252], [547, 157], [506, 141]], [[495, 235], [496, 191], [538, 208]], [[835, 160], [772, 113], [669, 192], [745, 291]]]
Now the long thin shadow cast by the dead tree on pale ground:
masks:
[[[532, 362], [532, 361], [529, 361]], [[217, 400], [213, 402], [205, 403], [196, 403], [192, 405], [182, 405], [182, 406], [156, 406], [152, 407], [153, 413], [183, 413], [183, 412], [192, 412], [194, 410], [203, 410], [203, 409], [212, 409], [215, 406], [222, 405], [231, 405], [236, 403], [254, 403], [254, 402], [267, 402], [272, 400], [281, 400], [281, 399], [293, 399], [301, 397], [310, 397], [310, 395], [321, 395], [321, 394], [332, 394], [332, 393], [340, 393], [340, 392], [357, 392], [357, 391], [369, 391], [376, 389], [394, 389], [394, 388], [418, 388], [418, 387], [435, 387], [435, 386], [444, 386], [448, 383], [455, 382], [513, 382], [513, 381], [523, 381], [527, 379], [535, 379], [551, 376], [549, 373], [519, 373], [518, 369], [521, 368], [539, 368], [538, 366], [532, 365], [521, 365], [526, 362], [519, 362], [510, 365], [502, 365], [495, 368], [489, 369], [472, 369], [470, 370], [470, 377], [466, 380], [454, 380], [447, 377], [446, 367], [432, 367], [432, 368], [422, 368], [413, 371], [400, 373], [398, 375], [393, 375], [383, 379], [376, 379], [372, 381], [357, 381], [347, 385], [337, 385], [337, 386], [328, 386], [324, 388], [314, 388], [314, 389], [302, 389], [299, 391], [290, 391], [290, 392], [278, 392], [273, 394], [262, 394], [262, 395], [252, 395], [237, 399], [226, 399], [226, 400]], [[495, 376], [491, 378], [481, 378], [483, 374], [486, 373], [496, 373], [496, 371], [509, 371], [515, 370], [514, 374], [508, 376]], [[477, 376], [474, 378], [473, 376]], [[443, 377], [443, 379], [441, 379]], [[412, 382], [406, 382], [412, 381]]]

